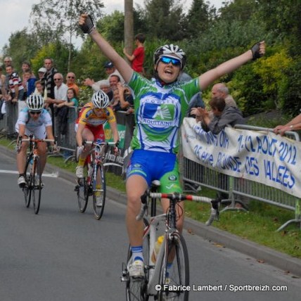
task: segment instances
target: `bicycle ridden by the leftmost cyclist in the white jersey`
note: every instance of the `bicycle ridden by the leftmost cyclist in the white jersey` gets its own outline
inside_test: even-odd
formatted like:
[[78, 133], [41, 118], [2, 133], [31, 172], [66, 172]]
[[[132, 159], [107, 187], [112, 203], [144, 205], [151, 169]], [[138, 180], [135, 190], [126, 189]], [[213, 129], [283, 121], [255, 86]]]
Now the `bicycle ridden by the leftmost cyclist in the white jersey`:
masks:
[[18, 139], [17, 151], [20, 151], [22, 142], [28, 141], [30, 151], [27, 153], [26, 165], [25, 165], [25, 181], [26, 184], [23, 187], [23, 193], [25, 197], [25, 206], [30, 207], [30, 201], [34, 207], [34, 213], [39, 213], [39, 207], [41, 204], [41, 162], [39, 160], [38, 143], [41, 142], [55, 142], [53, 139], [34, 139], [34, 135], [30, 134], [29, 138], [23, 139], [22, 136]]

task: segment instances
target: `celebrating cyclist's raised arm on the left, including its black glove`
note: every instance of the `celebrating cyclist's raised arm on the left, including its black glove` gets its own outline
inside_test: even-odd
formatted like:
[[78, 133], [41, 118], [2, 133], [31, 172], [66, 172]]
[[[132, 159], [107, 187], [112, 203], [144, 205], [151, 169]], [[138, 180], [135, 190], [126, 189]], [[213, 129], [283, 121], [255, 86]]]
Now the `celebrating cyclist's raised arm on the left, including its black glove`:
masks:
[[133, 75], [133, 70], [129, 64], [113, 49], [113, 47], [106, 41], [101, 34], [94, 27], [93, 20], [87, 13], [80, 15], [79, 27], [84, 33], [90, 35], [95, 41], [101, 52], [115, 65], [120, 72], [125, 82], [129, 82]]

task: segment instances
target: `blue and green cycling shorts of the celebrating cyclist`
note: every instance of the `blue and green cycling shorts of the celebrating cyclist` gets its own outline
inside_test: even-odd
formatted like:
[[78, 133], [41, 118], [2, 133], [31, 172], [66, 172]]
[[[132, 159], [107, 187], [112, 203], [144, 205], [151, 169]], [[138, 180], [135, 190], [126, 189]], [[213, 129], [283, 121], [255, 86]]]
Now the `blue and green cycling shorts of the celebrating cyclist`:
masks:
[[148, 186], [159, 180], [161, 193], [182, 193], [177, 155], [173, 153], [135, 150], [127, 167], [127, 179], [133, 174], [146, 179]]

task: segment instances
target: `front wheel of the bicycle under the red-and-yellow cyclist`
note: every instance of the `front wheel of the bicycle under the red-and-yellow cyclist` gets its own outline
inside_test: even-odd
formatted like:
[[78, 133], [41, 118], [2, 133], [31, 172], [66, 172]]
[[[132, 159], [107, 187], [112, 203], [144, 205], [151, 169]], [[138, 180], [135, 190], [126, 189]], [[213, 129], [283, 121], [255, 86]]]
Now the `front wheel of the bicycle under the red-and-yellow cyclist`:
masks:
[[94, 170], [94, 179], [92, 180], [93, 187], [93, 209], [94, 217], [101, 219], [103, 210], [105, 209], [105, 171], [103, 165], [96, 165]]

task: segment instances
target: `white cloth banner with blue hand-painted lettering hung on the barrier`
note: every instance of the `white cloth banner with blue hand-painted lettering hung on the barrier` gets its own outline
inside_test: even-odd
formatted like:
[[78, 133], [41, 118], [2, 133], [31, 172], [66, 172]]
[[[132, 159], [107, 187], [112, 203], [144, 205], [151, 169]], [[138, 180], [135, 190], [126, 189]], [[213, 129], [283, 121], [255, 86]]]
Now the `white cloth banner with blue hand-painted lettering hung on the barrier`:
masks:
[[301, 198], [300, 142], [268, 131], [229, 127], [215, 135], [203, 131], [194, 118], [184, 118], [181, 133], [184, 157]]

